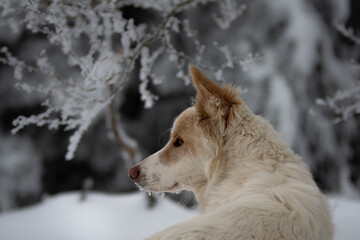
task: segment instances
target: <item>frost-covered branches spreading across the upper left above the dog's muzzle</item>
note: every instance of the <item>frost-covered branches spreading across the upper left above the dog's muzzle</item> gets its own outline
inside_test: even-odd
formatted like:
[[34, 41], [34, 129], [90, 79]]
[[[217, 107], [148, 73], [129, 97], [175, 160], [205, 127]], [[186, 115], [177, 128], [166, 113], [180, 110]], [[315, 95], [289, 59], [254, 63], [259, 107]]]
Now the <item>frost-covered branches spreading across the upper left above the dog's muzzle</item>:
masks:
[[[203, 64], [205, 46], [181, 13], [208, 3], [219, 6], [213, 17], [222, 29], [228, 28], [245, 10], [237, 0], [4, 0], [0, 6], [0, 24], [9, 26], [14, 32], [26, 29], [46, 36], [49, 46], [56, 46], [66, 57], [68, 69], [59, 70], [58, 65], [64, 63], [51, 59], [47, 49], [43, 49], [32, 63], [20, 60], [7, 47], [1, 48], [0, 62], [14, 69], [14, 77], [18, 80], [16, 87], [27, 93], [40, 93], [45, 99], [46, 110], [37, 115], [19, 116], [13, 122], [12, 132], [30, 124], [47, 125], [49, 129], [62, 126], [73, 131], [66, 154], [66, 159], [72, 159], [90, 124], [108, 106], [112, 109], [111, 104], [129, 81], [137, 61], [140, 63], [139, 92], [146, 108], [151, 108], [158, 99], [148, 89], [149, 83], [156, 85], [164, 81], [163, 76], [153, 72], [162, 56], [169, 57], [176, 76], [185, 83], [190, 82], [185, 74], [188, 64], [213, 72], [217, 79], [222, 79], [226, 68], [238, 65], [246, 69], [247, 63], [260, 56], [239, 58], [226, 46], [218, 47], [225, 56], [224, 64], [216, 67]], [[135, 24], [134, 19], [124, 17], [123, 9], [127, 6], [151, 9], [162, 16], [162, 20], [155, 25]], [[195, 46], [192, 54], [172, 44], [174, 34], [187, 36]], [[79, 43], [83, 45], [82, 51], [77, 46]], [[30, 83], [26, 78], [28, 73], [42, 78]], [[113, 128], [116, 137], [115, 122]], [[116, 141], [133, 155], [131, 147], [117, 136]]]

